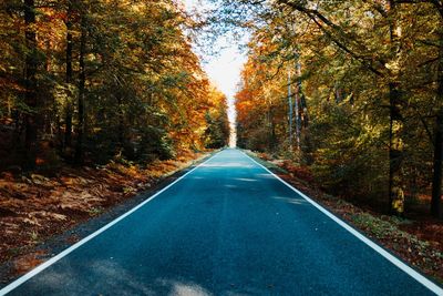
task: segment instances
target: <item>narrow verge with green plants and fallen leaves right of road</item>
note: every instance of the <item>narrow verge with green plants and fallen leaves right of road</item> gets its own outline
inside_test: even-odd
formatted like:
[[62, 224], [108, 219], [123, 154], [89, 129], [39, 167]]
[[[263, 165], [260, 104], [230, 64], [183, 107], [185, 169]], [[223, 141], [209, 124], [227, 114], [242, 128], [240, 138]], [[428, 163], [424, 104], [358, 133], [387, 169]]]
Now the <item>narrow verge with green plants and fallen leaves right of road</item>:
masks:
[[264, 153], [245, 152], [411, 266], [443, 284], [442, 222], [406, 220], [363, 210], [322, 192], [306, 167], [289, 161], [272, 160]]

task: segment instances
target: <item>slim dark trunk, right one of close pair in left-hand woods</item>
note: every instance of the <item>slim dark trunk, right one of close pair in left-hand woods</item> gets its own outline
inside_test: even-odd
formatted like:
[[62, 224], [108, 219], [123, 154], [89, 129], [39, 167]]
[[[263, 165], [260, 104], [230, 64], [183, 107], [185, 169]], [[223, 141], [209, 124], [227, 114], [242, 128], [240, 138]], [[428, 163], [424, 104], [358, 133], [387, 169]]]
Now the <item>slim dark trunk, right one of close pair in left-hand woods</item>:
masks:
[[86, 51], [86, 20], [84, 14], [81, 17], [81, 37], [80, 37], [80, 55], [79, 55], [79, 100], [78, 100], [78, 129], [76, 129], [76, 144], [75, 144], [75, 155], [74, 162], [76, 164], [83, 163], [83, 140], [84, 140], [84, 91], [85, 91], [85, 65], [84, 55]]

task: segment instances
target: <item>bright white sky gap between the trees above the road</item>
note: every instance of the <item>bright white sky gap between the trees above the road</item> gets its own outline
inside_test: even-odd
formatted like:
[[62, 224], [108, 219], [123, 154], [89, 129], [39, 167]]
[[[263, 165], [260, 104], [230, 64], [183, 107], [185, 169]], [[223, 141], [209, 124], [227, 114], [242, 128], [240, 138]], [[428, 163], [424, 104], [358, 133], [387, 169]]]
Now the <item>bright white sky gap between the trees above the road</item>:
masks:
[[[203, 11], [205, 7], [208, 7], [208, 2], [206, 0], [184, 0], [184, 2], [186, 9], [189, 11], [192, 11], [194, 8], [196, 8], [198, 11]], [[234, 95], [237, 92], [237, 85], [240, 81], [240, 72], [243, 64], [246, 62], [246, 54], [238, 50], [237, 44], [229, 43], [229, 41], [227, 41], [225, 38], [220, 38], [215, 47], [222, 48], [217, 55], [207, 55], [205, 53], [199, 54], [203, 55], [203, 67], [209, 79], [228, 98], [229, 121], [231, 123], [231, 127], [234, 127]], [[235, 135], [233, 134], [233, 137]]]

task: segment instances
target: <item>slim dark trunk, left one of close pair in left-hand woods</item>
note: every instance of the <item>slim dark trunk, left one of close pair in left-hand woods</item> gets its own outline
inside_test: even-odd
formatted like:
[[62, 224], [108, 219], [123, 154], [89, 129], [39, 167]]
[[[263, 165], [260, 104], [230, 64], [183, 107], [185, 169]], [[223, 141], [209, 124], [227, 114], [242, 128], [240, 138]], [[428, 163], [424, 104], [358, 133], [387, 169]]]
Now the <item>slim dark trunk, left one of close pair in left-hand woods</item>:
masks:
[[66, 109], [65, 109], [65, 126], [64, 126], [64, 147], [71, 146], [72, 142], [72, 1], [68, 0], [66, 8]]

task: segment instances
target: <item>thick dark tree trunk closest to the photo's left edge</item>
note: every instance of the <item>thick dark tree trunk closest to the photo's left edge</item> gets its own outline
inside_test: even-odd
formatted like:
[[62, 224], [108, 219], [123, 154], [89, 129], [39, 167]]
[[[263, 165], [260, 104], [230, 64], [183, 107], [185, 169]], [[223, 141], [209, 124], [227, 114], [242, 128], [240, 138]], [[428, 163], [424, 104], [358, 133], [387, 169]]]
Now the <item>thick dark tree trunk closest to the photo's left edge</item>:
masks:
[[27, 57], [25, 57], [25, 69], [24, 69], [24, 81], [25, 81], [25, 104], [31, 109], [31, 112], [27, 112], [24, 116], [25, 134], [24, 134], [24, 166], [27, 169], [33, 169], [35, 166], [37, 159], [37, 140], [38, 140], [38, 99], [37, 99], [37, 70], [38, 70], [38, 58], [37, 58], [37, 33], [34, 29], [35, 24], [35, 3], [34, 0], [24, 1], [24, 23], [25, 23], [25, 42], [27, 42]]

